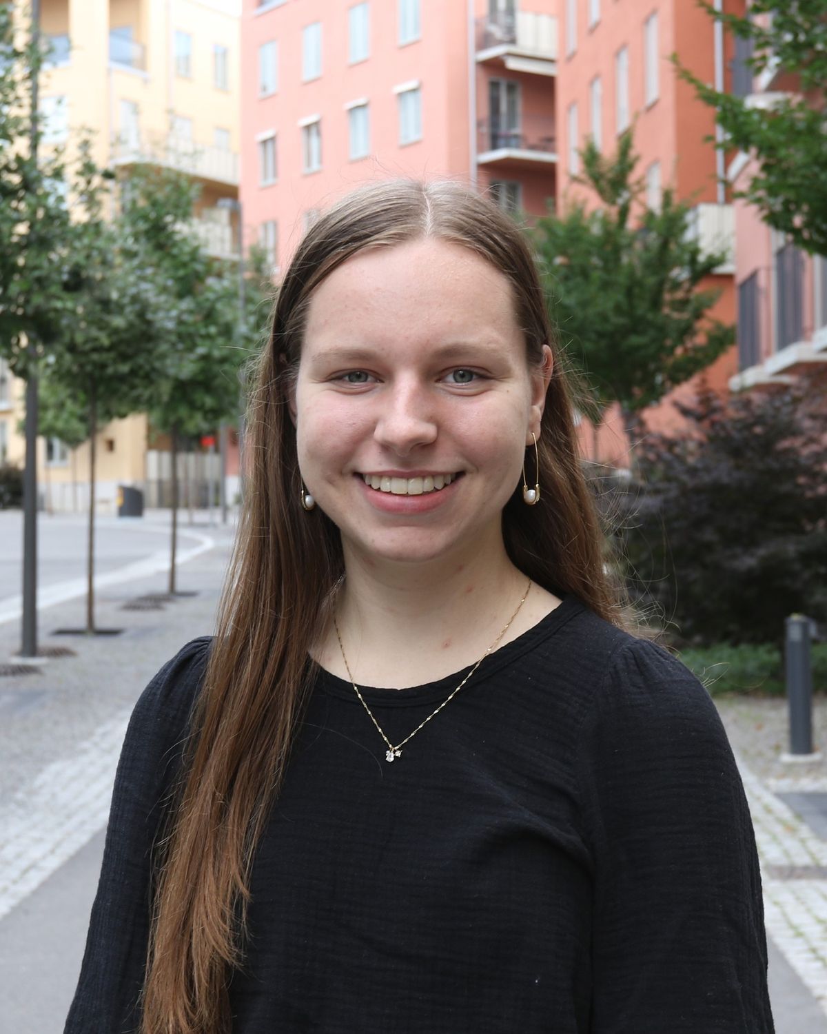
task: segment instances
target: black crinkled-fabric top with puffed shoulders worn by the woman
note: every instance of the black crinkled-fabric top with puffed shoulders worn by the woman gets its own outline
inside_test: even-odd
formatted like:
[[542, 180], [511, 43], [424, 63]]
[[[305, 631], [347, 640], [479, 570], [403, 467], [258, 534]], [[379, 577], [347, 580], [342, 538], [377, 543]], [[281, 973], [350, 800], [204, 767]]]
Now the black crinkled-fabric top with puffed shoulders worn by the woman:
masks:
[[[132, 716], [67, 1034], [137, 1024], [148, 853], [209, 642]], [[462, 674], [363, 695], [397, 743]], [[393, 763], [328, 672], [298, 737], [234, 1034], [771, 1034], [741, 782], [709, 696], [661, 647], [568, 598]]]

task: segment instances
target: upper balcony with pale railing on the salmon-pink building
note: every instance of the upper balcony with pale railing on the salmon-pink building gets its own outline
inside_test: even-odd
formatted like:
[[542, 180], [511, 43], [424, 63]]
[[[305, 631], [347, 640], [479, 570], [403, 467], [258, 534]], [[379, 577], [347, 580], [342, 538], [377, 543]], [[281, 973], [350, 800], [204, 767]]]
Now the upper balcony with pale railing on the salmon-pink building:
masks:
[[500, 11], [477, 19], [477, 61], [510, 71], [557, 74], [557, 19], [551, 14]]

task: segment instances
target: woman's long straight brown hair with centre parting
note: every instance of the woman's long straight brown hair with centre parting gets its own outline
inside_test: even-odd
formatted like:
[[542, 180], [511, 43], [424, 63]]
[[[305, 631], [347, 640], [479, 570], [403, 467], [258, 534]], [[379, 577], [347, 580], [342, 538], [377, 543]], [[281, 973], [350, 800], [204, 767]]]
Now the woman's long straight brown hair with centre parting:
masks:
[[[247, 423], [247, 481], [231, 573], [163, 840], [142, 1034], [222, 1034], [227, 975], [243, 961], [253, 850], [281, 786], [343, 573], [336, 526], [305, 513], [287, 398], [314, 290], [365, 248], [431, 237], [467, 247], [510, 280], [529, 364], [554, 353], [540, 440], [543, 503], [504, 508], [514, 564], [621, 624], [604, 536], [578, 458], [574, 408], [531, 251], [491, 202], [451, 182], [394, 180], [348, 194], [299, 245], [280, 284]], [[532, 450], [533, 452], [533, 450]], [[533, 456], [528, 457], [532, 464]]]

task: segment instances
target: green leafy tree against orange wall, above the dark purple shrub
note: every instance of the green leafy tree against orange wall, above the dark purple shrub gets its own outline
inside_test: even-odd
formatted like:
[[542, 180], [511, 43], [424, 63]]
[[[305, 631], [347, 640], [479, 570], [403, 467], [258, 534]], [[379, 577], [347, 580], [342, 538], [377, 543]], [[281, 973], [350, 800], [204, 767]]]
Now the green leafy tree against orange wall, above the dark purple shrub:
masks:
[[719, 291], [700, 284], [724, 262], [691, 234], [691, 209], [671, 189], [658, 209], [642, 200], [632, 133], [616, 154], [589, 141], [583, 175], [600, 205], [581, 201], [538, 220], [532, 237], [542, 261], [552, 318], [592, 394], [598, 422], [620, 405], [633, 442], [641, 410], [708, 366], [735, 340], [733, 327], [709, 309]]

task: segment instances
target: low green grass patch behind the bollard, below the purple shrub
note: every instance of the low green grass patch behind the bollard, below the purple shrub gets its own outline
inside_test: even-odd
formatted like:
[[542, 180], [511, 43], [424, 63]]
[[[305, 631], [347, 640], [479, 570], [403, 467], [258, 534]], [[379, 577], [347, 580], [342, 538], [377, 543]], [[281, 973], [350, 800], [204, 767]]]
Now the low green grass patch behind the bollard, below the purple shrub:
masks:
[[[704, 683], [710, 696], [778, 696], [786, 694], [782, 650], [770, 643], [760, 645], [717, 643], [691, 647], [678, 655]], [[827, 692], [827, 643], [810, 647], [814, 693]]]

